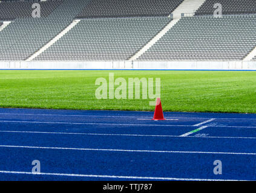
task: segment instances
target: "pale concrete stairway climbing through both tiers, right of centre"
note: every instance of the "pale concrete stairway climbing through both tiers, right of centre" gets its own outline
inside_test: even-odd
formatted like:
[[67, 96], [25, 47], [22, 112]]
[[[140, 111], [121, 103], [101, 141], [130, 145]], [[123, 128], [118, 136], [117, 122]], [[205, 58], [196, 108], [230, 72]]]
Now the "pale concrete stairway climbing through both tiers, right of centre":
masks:
[[151, 46], [153, 46], [158, 40], [160, 40], [177, 22], [179, 22], [182, 14], [189, 13], [190, 16], [194, 16], [195, 11], [205, 2], [206, 0], [184, 0], [169, 17], [173, 17], [173, 20], [166, 25], [153, 39], [151, 39], [142, 49], [129, 59], [129, 61], [137, 60], [143, 53], [145, 53]]

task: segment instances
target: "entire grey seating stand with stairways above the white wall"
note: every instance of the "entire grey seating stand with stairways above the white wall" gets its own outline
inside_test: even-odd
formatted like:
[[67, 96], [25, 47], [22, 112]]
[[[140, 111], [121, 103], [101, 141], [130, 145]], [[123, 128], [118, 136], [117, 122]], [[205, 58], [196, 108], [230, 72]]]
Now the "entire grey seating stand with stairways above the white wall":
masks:
[[0, 61], [249, 61], [255, 37], [251, 0], [0, 2]]

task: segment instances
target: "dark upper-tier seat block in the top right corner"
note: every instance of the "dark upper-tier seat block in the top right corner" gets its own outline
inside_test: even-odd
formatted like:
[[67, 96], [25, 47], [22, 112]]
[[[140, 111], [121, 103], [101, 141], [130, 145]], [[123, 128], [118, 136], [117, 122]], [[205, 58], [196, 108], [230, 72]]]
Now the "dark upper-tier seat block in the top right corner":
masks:
[[205, 3], [196, 11], [195, 15], [213, 14], [214, 4], [222, 4], [223, 14], [251, 14], [256, 13], [255, 0], [206, 0]]

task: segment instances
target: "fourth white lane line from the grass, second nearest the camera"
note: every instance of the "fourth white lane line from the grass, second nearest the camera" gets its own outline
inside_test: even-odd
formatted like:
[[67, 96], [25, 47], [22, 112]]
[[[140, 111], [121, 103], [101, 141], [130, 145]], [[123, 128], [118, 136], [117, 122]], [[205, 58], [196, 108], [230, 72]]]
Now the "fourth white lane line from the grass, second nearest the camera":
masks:
[[36, 147], [23, 145], [0, 145], [2, 148], [31, 148], [31, 149], [48, 149], [48, 150], [80, 150], [80, 151], [120, 151], [136, 153], [188, 153], [188, 154], [232, 154], [232, 155], [250, 155], [256, 153], [238, 153], [238, 152], [214, 152], [214, 151], [161, 151], [161, 150], [119, 150], [119, 149], [100, 149], [100, 148], [70, 148], [70, 147]]

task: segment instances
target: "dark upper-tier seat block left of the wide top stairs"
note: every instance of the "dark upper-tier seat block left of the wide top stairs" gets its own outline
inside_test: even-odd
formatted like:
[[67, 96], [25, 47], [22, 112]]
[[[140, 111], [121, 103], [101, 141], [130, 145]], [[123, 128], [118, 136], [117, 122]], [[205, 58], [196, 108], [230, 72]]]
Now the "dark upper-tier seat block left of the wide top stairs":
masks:
[[77, 17], [168, 16], [183, 0], [93, 0]]

